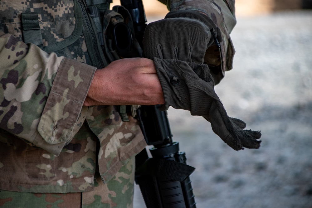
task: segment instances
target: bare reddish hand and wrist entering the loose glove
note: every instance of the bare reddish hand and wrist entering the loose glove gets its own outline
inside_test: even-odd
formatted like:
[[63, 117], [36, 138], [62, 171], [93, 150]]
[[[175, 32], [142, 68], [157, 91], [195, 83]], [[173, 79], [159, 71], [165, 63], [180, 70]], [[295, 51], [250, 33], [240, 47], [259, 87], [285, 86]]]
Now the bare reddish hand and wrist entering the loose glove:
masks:
[[83, 105], [130, 104], [164, 104], [153, 60], [120, 59], [96, 70]]

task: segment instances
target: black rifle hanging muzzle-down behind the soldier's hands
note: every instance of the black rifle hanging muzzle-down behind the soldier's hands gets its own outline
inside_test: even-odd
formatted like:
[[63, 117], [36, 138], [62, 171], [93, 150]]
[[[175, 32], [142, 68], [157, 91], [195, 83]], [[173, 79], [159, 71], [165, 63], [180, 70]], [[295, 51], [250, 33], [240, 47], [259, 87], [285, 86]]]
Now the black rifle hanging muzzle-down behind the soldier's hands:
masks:
[[[146, 17], [142, 0], [120, 0], [130, 13], [135, 38], [142, 47]], [[144, 149], [136, 156], [135, 181], [139, 184], [148, 208], [195, 208], [196, 202], [189, 175], [195, 168], [186, 165], [185, 152], [172, 141], [166, 111], [160, 105], [142, 106], [137, 110], [141, 130], [152, 158]]]

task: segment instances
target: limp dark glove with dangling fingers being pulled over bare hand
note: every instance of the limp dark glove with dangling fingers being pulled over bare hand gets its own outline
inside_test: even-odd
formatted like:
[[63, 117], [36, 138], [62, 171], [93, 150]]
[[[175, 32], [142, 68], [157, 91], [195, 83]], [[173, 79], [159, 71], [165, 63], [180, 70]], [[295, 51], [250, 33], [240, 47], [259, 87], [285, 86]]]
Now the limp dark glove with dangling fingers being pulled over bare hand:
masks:
[[206, 64], [158, 58], [154, 58], [154, 63], [165, 98], [161, 110], [172, 106], [204, 117], [213, 132], [234, 150], [260, 147], [260, 132], [243, 130], [243, 121], [227, 116]]

